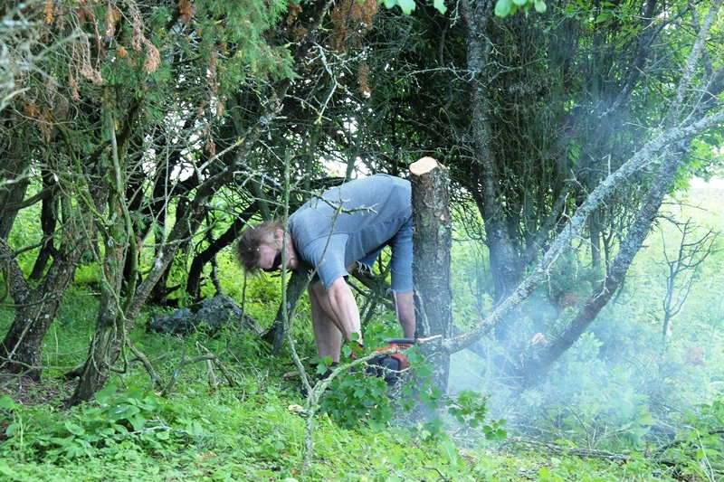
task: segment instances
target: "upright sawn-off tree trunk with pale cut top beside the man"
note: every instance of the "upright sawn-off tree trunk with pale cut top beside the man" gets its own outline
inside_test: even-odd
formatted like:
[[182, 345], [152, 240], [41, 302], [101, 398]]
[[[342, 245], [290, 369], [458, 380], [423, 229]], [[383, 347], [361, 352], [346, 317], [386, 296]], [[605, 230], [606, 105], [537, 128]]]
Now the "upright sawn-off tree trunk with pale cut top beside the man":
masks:
[[[413, 285], [417, 329], [415, 337], [452, 334], [450, 262], [452, 223], [448, 210], [448, 169], [432, 157], [410, 165], [413, 204]], [[433, 384], [447, 391], [450, 354], [428, 355]]]

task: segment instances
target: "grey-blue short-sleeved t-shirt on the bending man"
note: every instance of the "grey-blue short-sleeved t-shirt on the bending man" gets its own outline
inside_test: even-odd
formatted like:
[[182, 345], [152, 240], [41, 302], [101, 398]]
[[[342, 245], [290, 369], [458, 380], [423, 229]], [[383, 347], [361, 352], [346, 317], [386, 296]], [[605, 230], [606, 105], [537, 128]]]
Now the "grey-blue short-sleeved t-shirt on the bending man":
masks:
[[[291, 214], [289, 232], [300, 258], [297, 270], [307, 275], [317, 267], [326, 290], [335, 279], [348, 274], [346, 267], [378, 254], [412, 220], [410, 183], [399, 177], [362, 177], [331, 188], [321, 197], [312, 198]], [[405, 242], [412, 252], [412, 241]], [[393, 259], [394, 250], [393, 246]]]

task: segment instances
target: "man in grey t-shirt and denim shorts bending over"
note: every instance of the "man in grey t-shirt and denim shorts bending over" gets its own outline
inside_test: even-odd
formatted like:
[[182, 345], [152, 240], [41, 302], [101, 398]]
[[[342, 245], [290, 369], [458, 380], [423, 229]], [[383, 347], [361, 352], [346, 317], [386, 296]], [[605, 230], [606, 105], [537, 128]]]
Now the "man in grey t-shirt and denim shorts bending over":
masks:
[[362, 344], [359, 309], [347, 284], [352, 270], [371, 269], [385, 246], [392, 249], [392, 291], [405, 338], [414, 337], [413, 229], [409, 181], [372, 175], [314, 197], [281, 221], [244, 230], [237, 255], [250, 273], [287, 269], [310, 279], [312, 329], [319, 358], [339, 362], [342, 342]]

